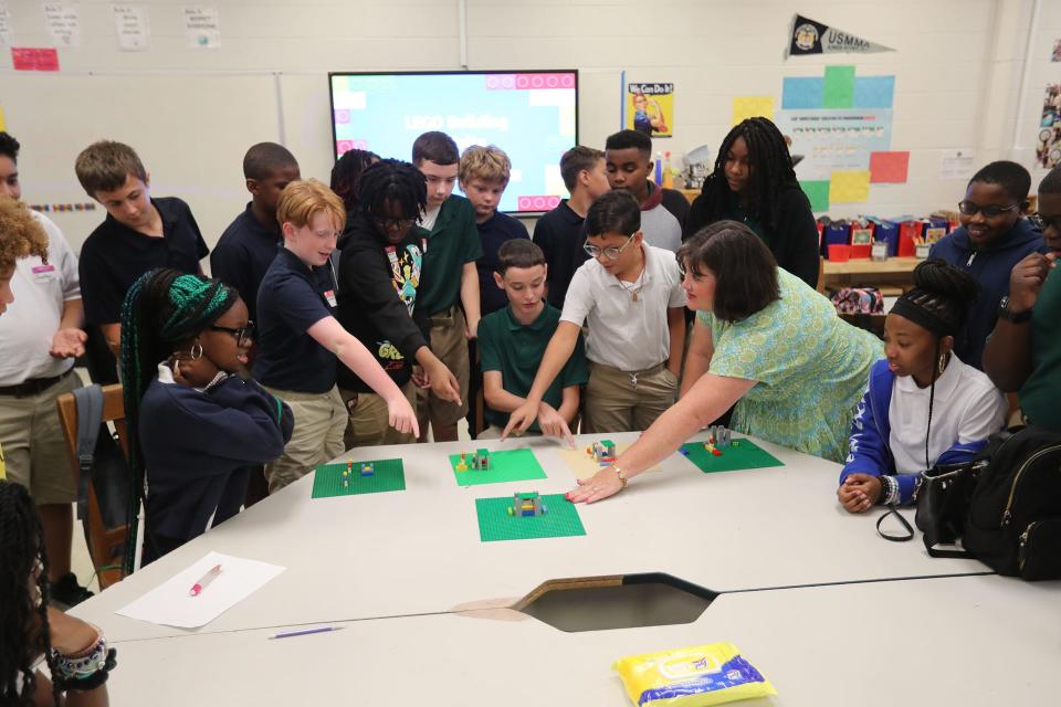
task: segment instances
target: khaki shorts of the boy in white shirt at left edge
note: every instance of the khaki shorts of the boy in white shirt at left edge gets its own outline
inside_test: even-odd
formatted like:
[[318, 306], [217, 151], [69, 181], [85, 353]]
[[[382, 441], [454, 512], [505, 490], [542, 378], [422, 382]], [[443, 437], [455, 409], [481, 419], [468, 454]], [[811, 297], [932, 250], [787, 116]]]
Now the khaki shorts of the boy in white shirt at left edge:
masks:
[[55, 399], [81, 388], [70, 371], [36, 395], [0, 395], [0, 446], [8, 481], [25, 486], [38, 505], [77, 500], [77, 482], [66, 454], [66, 441]]

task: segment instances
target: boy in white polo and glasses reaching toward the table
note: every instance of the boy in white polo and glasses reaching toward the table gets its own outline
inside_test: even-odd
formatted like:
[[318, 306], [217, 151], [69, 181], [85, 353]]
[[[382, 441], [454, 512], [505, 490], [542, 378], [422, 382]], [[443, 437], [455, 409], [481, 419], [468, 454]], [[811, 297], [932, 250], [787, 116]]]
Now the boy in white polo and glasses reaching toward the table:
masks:
[[[571, 278], [556, 334], [526, 402], [504, 436], [539, 414], [542, 394], [588, 325], [589, 384], [582, 432], [645, 430], [674, 403], [685, 340], [685, 293], [674, 254], [643, 243], [641, 210], [626, 191], [601, 196], [586, 214], [586, 261]], [[563, 424], [546, 434], [567, 435]]]

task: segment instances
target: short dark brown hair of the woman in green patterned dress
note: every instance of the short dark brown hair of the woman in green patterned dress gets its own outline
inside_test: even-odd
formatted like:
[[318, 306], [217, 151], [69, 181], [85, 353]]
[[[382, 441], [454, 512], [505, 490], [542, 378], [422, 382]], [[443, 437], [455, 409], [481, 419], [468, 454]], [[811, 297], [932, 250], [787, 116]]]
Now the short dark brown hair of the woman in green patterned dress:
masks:
[[752, 229], [717, 221], [677, 250], [677, 262], [694, 274], [715, 276], [713, 312], [723, 321], [740, 321], [781, 298], [777, 261]]

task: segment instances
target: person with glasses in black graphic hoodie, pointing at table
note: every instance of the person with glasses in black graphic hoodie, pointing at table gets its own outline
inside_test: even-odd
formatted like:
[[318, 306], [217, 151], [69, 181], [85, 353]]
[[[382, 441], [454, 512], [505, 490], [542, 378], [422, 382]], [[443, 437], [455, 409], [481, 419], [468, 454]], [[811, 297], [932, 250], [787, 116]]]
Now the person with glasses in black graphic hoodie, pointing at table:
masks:
[[[358, 211], [339, 239], [339, 308], [343, 327], [376, 357], [416, 405], [412, 367], [423, 368], [442, 400], [460, 403], [460, 384], [428, 346], [428, 317], [418, 297], [423, 286], [428, 232], [416, 220], [427, 201], [423, 176], [409, 162], [385, 159], [361, 172]], [[339, 394], [350, 413], [347, 446], [414, 441], [387, 423], [387, 401], [354, 371], [339, 369]]]

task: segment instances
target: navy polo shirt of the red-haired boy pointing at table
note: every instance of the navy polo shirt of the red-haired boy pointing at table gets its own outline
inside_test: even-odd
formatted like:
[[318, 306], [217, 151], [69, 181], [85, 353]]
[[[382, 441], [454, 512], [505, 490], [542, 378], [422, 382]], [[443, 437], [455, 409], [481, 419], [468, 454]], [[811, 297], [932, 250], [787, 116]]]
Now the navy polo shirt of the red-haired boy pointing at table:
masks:
[[258, 288], [258, 356], [254, 378], [298, 393], [326, 393], [335, 386], [335, 355], [306, 330], [335, 312], [328, 265], [311, 268], [287, 249], [269, 266]]

